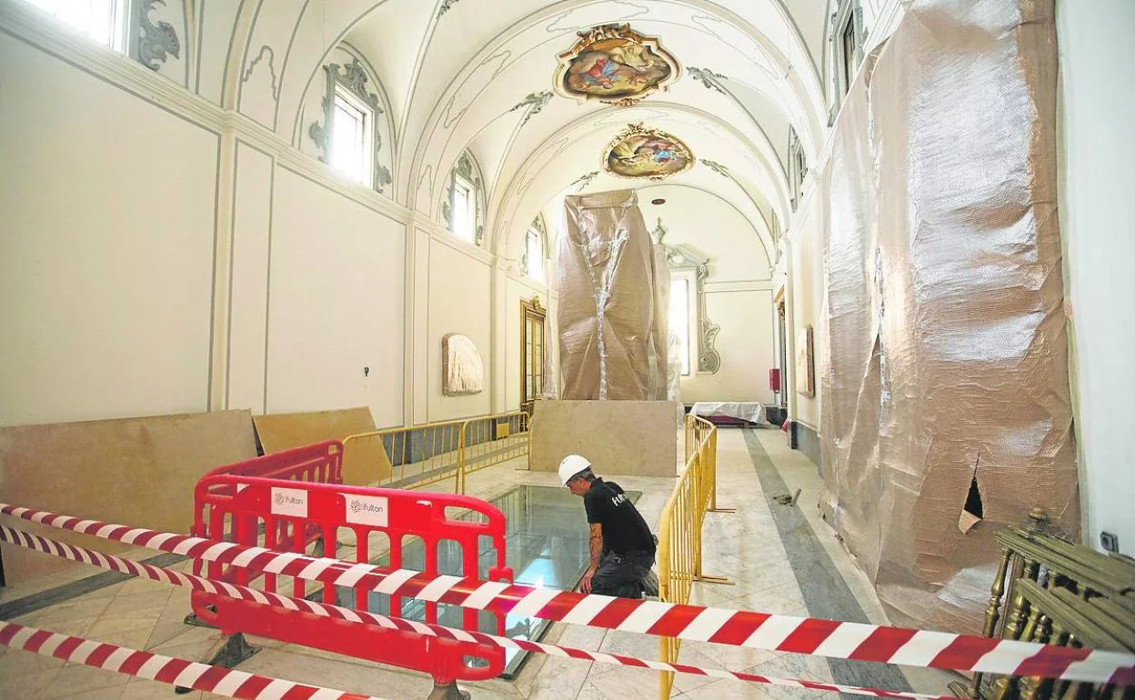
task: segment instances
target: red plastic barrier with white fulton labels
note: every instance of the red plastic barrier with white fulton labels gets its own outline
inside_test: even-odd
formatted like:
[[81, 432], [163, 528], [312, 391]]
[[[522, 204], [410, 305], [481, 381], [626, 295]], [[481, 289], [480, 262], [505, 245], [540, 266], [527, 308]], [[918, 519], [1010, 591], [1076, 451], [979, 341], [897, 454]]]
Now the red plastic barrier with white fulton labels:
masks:
[[[348, 487], [340, 483], [343, 446], [321, 442], [266, 455], [209, 472], [194, 494], [193, 534], [241, 545], [261, 545], [277, 551], [304, 554], [309, 548], [322, 556], [367, 565], [379, 551], [373, 533], [389, 546], [382, 568], [404, 568], [404, 540], [420, 538], [424, 553], [422, 571], [430, 575], [454, 574], [511, 583], [505, 565], [505, 518], [489, 504], [466, 496]], [[272, 474], [264, 478], [261, 474]], [[333, 479], [331, 483], [295, 480], [299, 476]], [[452, 520], [447, 508], [478, 514], [476, 521]], [[262, 533], [262, 534], [261, 534]], [[339, 556], [338, 538], [354, 541], [354, 551]], [[461, 571], [439, 571], [438, 549], [460, 553]], [[482, 550], [490, 559], [479, 566]], [[232, 564], [197, 560], [194, 572], [210, 579], [250, 585], [296, 598], [305, 597], [306, 582], [296, 576], [286, 589], [286, 576], [267, 568], [250, 570], [237, 558]], [[207, 571], [205, 571], [207, 570]], [[360, 577], [370, 566], [360, 566]], [[325, 585], [322, 600], [339, 601], [350, 594], [359, 610], [370, 610], [385, 600], [370, 589], [339, 581]], [[389, 614], [402, 616], [402, 596], [389, 597]], [[344, 601], [346, 602], [346, 601]], [[347, 602], [350, 605], [350, 602]], [[504, 671], [499, 647], [470, 641], [426, 636], [381, 627], [348, 625], [279, 606], [236, 600], [203, 592], [193, 593], [193, 610], [225, 634], [245, 632], [314, 647], [336, 653], [429, 673], [437, 683], [491, 678]], [[376, 610], [379, 612], [379, 610]], [[478, 630], [478, 612], [460, 610], [460, 626]], [[424, 604], [426, 622], [438, 622], [438, 604]], [[498, 634], [504, 616], [494, 614]], [[451, 626], [459, 626], [451, 621]], [[465, 657], [478, 659], [477, 666]]]

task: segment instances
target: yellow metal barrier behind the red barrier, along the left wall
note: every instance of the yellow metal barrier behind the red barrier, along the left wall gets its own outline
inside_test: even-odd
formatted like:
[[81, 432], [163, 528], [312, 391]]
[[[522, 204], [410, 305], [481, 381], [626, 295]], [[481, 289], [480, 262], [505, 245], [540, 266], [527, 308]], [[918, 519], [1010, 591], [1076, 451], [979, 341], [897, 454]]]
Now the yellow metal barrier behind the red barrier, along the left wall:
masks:
[[344, 476], [358, 486], [415, 489], [528, 454], [528, 415], [501, 413], [457, 421], [388, 428], [343, 440]]

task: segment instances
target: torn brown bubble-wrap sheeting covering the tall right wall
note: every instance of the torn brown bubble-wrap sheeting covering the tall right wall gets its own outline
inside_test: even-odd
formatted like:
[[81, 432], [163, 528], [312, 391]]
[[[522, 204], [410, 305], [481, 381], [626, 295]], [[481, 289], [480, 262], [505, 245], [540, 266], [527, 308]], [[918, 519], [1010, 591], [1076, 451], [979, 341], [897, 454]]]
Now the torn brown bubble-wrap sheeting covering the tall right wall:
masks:
[[980, 633], [995, 532], [1079, 525], [1051, 0], [917, 0], [821, 187], [822, 506], [896, 624]]

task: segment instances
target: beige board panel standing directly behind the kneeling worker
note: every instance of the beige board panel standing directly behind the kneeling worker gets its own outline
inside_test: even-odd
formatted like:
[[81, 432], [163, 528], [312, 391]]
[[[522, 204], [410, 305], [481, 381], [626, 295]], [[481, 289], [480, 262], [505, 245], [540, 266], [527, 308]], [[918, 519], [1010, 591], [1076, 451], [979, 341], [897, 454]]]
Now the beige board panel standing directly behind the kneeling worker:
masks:
[[538, 400], [530, 469], [555, 472], [579, 454], [599, 475], [675, 476], [676, 412], [673, 402]]

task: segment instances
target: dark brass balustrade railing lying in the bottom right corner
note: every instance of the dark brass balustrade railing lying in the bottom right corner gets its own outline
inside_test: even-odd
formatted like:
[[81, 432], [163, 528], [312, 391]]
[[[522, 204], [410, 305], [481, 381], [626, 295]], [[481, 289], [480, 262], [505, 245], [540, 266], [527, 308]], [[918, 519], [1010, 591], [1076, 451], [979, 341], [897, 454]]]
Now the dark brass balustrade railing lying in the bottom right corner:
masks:
[[[1135, 559], [1045, 532], [1043, 512], [998, 533], [1001, 562], [985, 612], [989, 638], [1135, 651]], [[973, 700], [1133, 700], [1135, 686], [983, 676], [950, 685]]]

